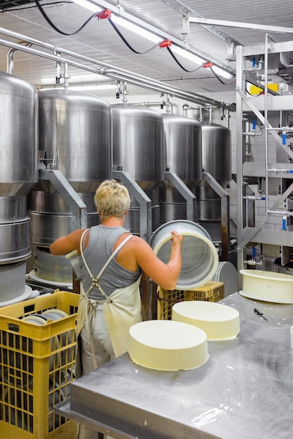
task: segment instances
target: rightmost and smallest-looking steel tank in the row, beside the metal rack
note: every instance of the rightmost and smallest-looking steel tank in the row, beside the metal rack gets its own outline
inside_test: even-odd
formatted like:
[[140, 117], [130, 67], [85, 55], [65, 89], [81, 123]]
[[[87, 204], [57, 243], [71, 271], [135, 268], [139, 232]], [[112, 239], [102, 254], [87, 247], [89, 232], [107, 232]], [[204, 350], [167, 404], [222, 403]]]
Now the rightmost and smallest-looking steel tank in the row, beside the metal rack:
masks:
[[[203, 123], [202, 161], [203, 172], [210, 173], [225, 188], [232, 178], [229, 128], [216, 123]], [[221, 198], [205, 180], [201, 180], [196, 187], [196, 197], [199, 222], [209, 231], [213, 241], [221, 241]]]

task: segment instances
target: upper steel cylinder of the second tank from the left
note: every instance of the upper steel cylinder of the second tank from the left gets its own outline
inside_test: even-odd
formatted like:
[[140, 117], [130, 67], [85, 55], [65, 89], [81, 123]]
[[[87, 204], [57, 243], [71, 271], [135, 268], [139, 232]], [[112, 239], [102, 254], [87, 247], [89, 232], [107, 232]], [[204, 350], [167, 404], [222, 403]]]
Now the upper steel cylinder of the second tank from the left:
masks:
[[111, 106], [90, 93], [39, 91], [39, 151], [76, 192], [111, 174]]

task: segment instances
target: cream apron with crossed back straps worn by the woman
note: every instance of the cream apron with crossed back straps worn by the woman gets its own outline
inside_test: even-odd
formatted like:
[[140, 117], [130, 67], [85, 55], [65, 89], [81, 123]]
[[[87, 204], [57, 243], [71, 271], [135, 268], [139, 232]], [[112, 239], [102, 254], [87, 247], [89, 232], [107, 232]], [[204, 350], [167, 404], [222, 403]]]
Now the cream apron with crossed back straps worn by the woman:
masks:
[[[86, 234], [87, 231], [88, 229], [83, 232], [83, 236], [84, 234]], [[139, 323], [142, 321], [142, 303], [139, 291], [141, 276], [139, 276], [135, 283], [132, 283], [127, 287], [117, 288], [109, 296], [102, 290], [98, 281], [100, 279], [100, 276], [102, 276], [104, 270], [107, 268], [109, 262], [111, 262], [111, 259], [113, 259], [118, 250], [123, 247], [128, 239], [132, 237], [132, 235], [127, 236], [127, 238], [125, 238], [124, 241], [120, 245], [118, 245], [118, 248], [116, 248], [116, 250], [111, 254], [106, 264], [104, 264], [100, 273], [98, 273], [96, 277], [94, 277], [93, 274], [90, 272], [88, 264], [86, 263], [86, 259], [83, 255], [83, 236], [81, 237], [81, 256], [83, 257], [83, 263], [85, 264], [86, 269], [88, 270], [88, 274], [90, 275], [93, 283], [92, 285], [90, 285], [90, 288], [88, 288], [88, 291], [86, 292], [84, 291], [83, 285], [81, 283], [81, 297], [79, 299], [79, 309], [77, 312], [77, 337], [79, 336], [83, 327], [86, 327], [86, 330], [88, 331], [88, 335], [90, 337], [90, 333], [92, 330], [91, 325], [93, 325], [93, 323], [95, 322], [95, 304], [103, 304], [104, 319], [107, 324], [114, 354], [116, 357], [118, 357], [128, 351], [130, 327], [135, 323]], [[95, 300], [88, 298], [88, 295], [90, 291], [94, 288], [94, 286], [97, 286], [100, 292], [102, 292], [102, 295], [105, 297], [104, 300]], [[93, 349], [92, 353], [94, 366], [97, 367], [95, 361], [95, 353]], [[76, 377], [80, 376], [80, 366], [81, 365], [79, 364], [79, 356], [77, 356]]]

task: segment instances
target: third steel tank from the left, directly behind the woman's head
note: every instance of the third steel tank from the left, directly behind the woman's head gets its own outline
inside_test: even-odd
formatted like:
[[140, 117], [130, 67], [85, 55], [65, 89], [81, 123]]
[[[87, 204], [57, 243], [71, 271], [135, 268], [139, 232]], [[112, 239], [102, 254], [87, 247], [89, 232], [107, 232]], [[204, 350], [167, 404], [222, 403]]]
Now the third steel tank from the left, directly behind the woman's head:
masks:
[[[135, 104], [112, 105], [113, 165], [137, 182], [152, 203], [152, 228], [159, 224], [158, 186], [163, 181], [163, 118]], [[139, 204], [131, 196], [125, 227], [139, 234]]]

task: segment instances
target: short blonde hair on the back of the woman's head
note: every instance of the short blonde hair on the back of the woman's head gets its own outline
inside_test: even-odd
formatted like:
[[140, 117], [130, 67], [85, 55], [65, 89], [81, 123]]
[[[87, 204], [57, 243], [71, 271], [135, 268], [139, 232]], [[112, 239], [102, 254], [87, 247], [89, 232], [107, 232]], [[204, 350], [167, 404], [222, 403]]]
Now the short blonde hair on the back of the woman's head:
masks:
[[130, 208], [130, 195], [128, 189], [117, 180], [105, 180], [95, 192], [95, 206], [100, 215], [122, 218]]

